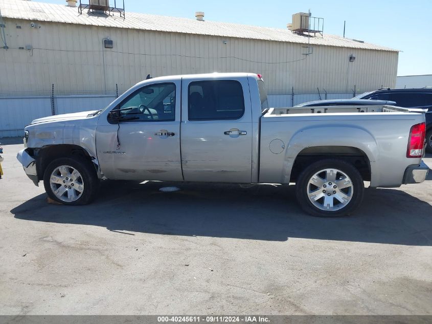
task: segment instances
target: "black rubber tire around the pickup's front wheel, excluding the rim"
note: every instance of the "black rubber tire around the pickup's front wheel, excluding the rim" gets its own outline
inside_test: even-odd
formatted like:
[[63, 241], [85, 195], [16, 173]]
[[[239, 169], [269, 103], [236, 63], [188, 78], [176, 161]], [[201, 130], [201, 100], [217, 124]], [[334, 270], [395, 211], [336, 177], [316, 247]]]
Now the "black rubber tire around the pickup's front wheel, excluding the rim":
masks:
[[[84, 183], [84, 190], [81, 194], [81, 197], [79, 197], [75, 201], [66, 202], [56, 197], [54, 192], [52, 191], [51, 184], [50, 184], [50, 178], [52, 172], [59, 166], [62, 165], [68, 165], [76, 170], [81, 174], [82, 181]], [[59, 203], [62, 203], [64, 205], [86, 205], [90, 203], [95, 197], [98, 192], [99, 188], [99, 179], [96, 174], [95, 167], [92, 162], [85, 160], [81, 157], [74, 157], [74, 158], [59, 158], [51, 162], [47, 168], [45, 169], [45, 172], [43, 174], [43, 186], [45, 187], [45, 191], [47, 192], [47, 195]]]

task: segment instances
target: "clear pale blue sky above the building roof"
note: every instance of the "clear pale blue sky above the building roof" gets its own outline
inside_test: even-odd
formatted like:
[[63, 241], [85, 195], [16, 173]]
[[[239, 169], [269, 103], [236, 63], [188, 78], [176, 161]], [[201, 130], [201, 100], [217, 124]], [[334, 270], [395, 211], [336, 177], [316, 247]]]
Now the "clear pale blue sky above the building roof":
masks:
[[343, 35], [346, 20], [346, 37], [402, 51], [398, 75], [432, 74], [432, 0], [125, 0], [125, 7], [126, 16], [133, 11], [195, 18], [195, 11], [204, 11], [206, 20], [274, 28], [286, 28], [293, 13], [310, 9], [312, 16], [324, 18], [324, 33]]

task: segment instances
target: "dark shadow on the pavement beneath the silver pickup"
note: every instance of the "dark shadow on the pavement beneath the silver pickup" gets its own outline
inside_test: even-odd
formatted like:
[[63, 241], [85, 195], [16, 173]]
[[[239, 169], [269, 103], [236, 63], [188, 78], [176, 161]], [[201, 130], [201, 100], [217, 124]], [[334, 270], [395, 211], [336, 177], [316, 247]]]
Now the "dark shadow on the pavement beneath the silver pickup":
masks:
[[[171, 185], [181, 190], [158, 190]], [[93, 204], [53, 205], [43, 194], [11, 213], [22, 220], [102, 226], [132, 235], [432, 245], [432, 206], [406, 192], [367, 189], [362, 206], [350, 217], [327, 219], [305, 214], [294, 193], [294, 186], [103, 181]]]

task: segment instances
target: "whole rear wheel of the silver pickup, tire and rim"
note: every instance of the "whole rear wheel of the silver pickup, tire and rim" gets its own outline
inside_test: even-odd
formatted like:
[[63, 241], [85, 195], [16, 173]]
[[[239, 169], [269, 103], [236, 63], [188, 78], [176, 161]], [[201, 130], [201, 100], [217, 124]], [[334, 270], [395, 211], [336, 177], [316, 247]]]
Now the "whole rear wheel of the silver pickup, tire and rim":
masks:
[[307, 213], [340, 217], [354, 211], [363, 199], [365, 186], [358, 170], [342, 160], [312, 163], [299, 175], [296, 196]]

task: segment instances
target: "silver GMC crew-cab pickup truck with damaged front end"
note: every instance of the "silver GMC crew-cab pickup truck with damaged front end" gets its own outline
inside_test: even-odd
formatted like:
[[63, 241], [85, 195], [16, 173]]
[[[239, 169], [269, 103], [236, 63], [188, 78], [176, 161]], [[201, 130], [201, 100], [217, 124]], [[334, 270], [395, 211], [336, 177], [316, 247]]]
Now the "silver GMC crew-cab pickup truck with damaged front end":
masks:
[[103, 110], [34, 120], [17, 159], [67, 205], [89, 203], [99, 179], [296, 183], [305, 211], [340, 216], [363, 181], [425, 180], [424, 121], [386, 105], [269, 108], [259, 74], [157, 77]]

